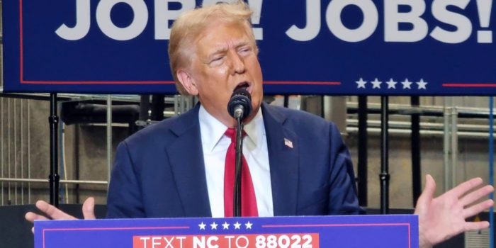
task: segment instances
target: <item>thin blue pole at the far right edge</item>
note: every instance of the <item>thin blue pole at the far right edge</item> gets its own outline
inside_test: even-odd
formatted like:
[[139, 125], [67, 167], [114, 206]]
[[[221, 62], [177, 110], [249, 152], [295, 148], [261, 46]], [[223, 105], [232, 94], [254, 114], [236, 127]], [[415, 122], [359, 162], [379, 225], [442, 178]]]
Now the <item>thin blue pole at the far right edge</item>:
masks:
[[[492, 113], [492, 107], [494, 106], [494, 98], [492, 96], [489, 97], [489, 184], [494, 186], [495, 185], [495, 158], [494, 158], [494, 152], [495, 152], [495, 137], [494, 137], [494, 115]], [[494, 201], [495, 199], [495, 194], [491, 193], [489, 196], [490, 199]], [[495, 209], [493, 207], [490, 208], [489, 210], [489, 247], [495, 247], [495, 217], [494, 217], [494, 211]]]

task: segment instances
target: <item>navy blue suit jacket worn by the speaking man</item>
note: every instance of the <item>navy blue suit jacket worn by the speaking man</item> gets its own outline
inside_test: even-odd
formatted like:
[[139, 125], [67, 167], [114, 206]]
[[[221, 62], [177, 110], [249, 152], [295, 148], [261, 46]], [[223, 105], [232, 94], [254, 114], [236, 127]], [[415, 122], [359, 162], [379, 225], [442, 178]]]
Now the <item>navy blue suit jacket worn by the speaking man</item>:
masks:
[[[108, 218], [210, 217], [199, 106], [120, 143], [108, 190]], [[359, 214], [354, 172], [328, 121], [262, 104], [274, 215]], [[284, 144], [291, 140], [293, 147]]]

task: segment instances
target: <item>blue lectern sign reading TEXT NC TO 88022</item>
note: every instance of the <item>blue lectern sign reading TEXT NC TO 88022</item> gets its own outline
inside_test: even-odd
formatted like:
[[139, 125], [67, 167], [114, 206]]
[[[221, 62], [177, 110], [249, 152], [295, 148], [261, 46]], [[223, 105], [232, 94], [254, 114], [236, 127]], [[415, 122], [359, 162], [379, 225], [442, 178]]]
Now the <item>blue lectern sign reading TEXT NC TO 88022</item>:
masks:
[[35, 248], [417, 248], [417, 215], [35, 221]]

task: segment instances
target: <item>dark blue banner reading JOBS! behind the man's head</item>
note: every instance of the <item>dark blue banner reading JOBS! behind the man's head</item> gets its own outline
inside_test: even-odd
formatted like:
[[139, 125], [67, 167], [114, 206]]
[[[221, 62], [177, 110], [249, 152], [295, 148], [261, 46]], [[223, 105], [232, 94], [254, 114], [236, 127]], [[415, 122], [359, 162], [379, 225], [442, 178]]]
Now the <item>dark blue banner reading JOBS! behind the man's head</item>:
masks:
[[[167, 45], [218, 0], [9, 0], [4, 90], [175, 94]], [[492, 0], [247, 0], [265, 94], [494, 95]]]

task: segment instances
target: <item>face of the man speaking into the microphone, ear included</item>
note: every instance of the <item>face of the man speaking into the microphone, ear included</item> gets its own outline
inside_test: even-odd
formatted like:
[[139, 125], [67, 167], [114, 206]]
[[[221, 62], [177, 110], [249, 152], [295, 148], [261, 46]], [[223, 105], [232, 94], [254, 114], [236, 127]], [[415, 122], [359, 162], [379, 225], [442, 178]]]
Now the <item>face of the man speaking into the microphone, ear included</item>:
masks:
[[178, 71], [186, 91], [198, 95], [206, 111], [228, 127], [235, 125], [227, 113], [232, 91], [244, 87], [252, 95], [253, 111], [245, 122], [259, 111], [263, 97], [257, 47], [248, 31], [241, 23], [210, 23], [196, 40], [190, 66]]

